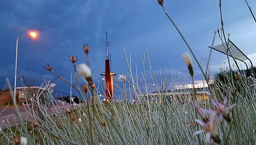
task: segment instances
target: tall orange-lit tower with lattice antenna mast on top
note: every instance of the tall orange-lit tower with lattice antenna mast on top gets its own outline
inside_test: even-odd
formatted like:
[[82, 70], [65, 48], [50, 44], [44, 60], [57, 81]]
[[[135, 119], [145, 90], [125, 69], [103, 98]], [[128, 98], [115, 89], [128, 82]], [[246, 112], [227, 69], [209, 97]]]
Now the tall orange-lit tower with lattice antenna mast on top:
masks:
[[106, 101], [113, 100], [113, 76], [116, 75], [115, 72], [111, 70], [111, 54], [109, 53], [109, 41], [108, 41], [108, 32], [106, 31], [106, 59], [105, 59], [105, 72], [102, 72], [100, 75], [105, 76], [105, 94]]

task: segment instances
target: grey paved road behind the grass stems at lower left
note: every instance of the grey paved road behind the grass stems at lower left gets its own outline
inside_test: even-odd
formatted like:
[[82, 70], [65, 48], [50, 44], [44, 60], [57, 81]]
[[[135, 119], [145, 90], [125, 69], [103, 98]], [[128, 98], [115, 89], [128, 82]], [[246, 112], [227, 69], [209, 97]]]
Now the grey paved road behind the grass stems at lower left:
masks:
[[[54, 107], [55, 106], [55, 107]], [[57, 112], [62, 112], [65, 109], [69, 108], [71, 109], [76, 109], [78, 106], [84, 107], [85, 104], [77, 104], [72, 105], [72, 104], [65, 104], [65, 105], [54, 105], [51, 107], [49, 112], [51, 112], [51, 115], [56, 114]], [[54, 108], [57, 108], [54, 109]], [[31, 116], [27, 113], [26, 109], [28, 110], [28, 106], [18, 106], [19, 112], [21, 114], [21, 118], [24, 120], [32, 121], [33, 119]], [[15, 114], [15, 107], [10, 106], [10, 107], [2, 107], [0, 108], [0, 127], [1, 129], [6, 129], [8, 127], [14, 127], [20, 125], [20, 121], [17, 118]]]

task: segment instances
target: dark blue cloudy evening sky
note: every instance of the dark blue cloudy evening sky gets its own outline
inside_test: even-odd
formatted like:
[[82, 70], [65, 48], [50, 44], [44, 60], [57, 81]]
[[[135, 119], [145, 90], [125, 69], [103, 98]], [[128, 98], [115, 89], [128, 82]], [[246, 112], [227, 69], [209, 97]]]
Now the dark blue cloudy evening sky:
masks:
[[[256, 1], [247, 0], [256, 14]], [[164, 1], [166, 10], [173, 18], [196, 57], [204, 64], [208, 56], [214, 31], [221, 27], [218, 0]], [[181, 55], [188, 51], [185, 43], [165, 16], [157, 0], [109, 0], [109, 1], [1, 1], [0, 4], [0, 89], [8, 77], [14, 86], [16, 39], [30, 30], [39, 33], [37, 39], [28, 36], [19, 38], [17, 86], [20, 77], [28, 82], [41, 84], [44, 78], [56, 83], [55, 90], [69, 93], [63, 81], [44, 69], [50, 64], [54, 71], [70, 80], [73, 69], [68, 55], [78, 56], [77, 64], [85, 62], [83, 45], [90, 46], [89, 61], [95, 83], [103, 84], [100, 73], [104, 71], [105, 29], [107, 26], [112, 55], [112, 70], [126, 75], [124, 48], [131, 52], [132, 70], [137, 64], [138, 74], [143, 71], [138, 55], [146, 51], [150, 56], [158, 83], [162, 77], [171, 78], [171, 68], [180, 74], [183, 70], [189, 83], [188, 70]], [[243, 0], [222, 2], [225, 32], [230, 39], [256, 63], [256, 23]], [[216, 37], [215, 45], [220, 44]], [[210, 65], [213, 74], [218, 72], [226, 56], [213, 52]], [[195, 61], [194, 61], [195, 62]], [[145, 70], [150, 81], [150, 69], [146, 59]], [[200, 83], [201, 75], [194, 63], [195, 80]], [[205, 66], [203, 65], [203, 68]], [[160, 70], [161, 69], [161, 70]], [[140, 78], [140, 77], [139, 77]], [[73, 80], [74, 81], [74, 80]], [[80, 83], [82, 80], [79, 79]], [[114, 84], [119, 83], [117, 76]], [[116, 90], [115, 90], [116, 91]], [[116, 91], [117, 92], [117, 91]]]

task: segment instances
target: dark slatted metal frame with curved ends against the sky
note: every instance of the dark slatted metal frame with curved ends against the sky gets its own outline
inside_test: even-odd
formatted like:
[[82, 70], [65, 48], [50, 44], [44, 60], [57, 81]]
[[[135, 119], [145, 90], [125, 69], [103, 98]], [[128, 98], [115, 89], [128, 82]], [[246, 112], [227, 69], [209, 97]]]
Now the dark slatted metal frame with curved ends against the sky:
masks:
[[[246, 65], [246, 70], [247, 71], [248, 71], [248, 66], [247, 66], [245, 60], [249, 60], [250, 64], [252, 65], [252, 69], [253, 69], [252, 61], [230, 39], [228, 39], [227, 43], [228, 43], [228, 46], [229, 46], [228, 56], [232, 57], [231, 54], [230, 54], [230, 52], [231, 52], [235, 59], [244, 62], [245, 65]], [[222, 54], [227, 55], [226, 49], [225, 49], [225, 48], [227, 48], [227, 43], [224, 43], [225, 46], [223, 44], [220, 44], [220, 45], [212, 47], [212, 49], [216, 50], [216, 51], [219, 51]], [[210, 46], [208, 46], [208, 47], [211, 48]]]

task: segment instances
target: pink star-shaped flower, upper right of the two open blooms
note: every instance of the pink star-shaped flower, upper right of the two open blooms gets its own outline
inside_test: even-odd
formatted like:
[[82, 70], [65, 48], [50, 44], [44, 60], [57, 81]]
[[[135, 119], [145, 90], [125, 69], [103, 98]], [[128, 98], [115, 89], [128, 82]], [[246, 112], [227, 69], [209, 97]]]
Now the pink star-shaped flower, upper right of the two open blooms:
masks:
[[229, 107], [226, 107], [226, 104], [227, 104], [227, 96], [225, 97], [223, 103], [217, 103], [215, 100], [211, 99], [212, 101], [212, 104], [214, 106], [216, 106], [216, 109], [214, 109], [214, 111], [219, 114], [219, 121], [221, 122], [222, 121], [222, 118], [224, 118], [225, 120], [227, 120], [227, 122], [230, 122], [230, 117], [229, 117], [229, 114], [228, 114], [228, 111], [232, 108], [234, 108], [236, 106], [236, 103], [235, 104], [232, 104], [231, 106]]

